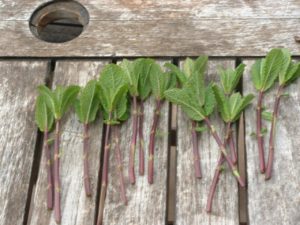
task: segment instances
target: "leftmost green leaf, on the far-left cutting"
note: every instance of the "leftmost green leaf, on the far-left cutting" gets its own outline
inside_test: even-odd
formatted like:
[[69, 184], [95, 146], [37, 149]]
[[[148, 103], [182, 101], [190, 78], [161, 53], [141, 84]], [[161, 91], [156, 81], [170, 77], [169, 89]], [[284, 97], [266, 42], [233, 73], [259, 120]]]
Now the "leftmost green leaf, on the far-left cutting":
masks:
[[53, 120], [53, 114], [46, 104], [45, 96], [39, 95], [35, 106], [35, 122], [40, 131], [45, 132], [51, 130]]

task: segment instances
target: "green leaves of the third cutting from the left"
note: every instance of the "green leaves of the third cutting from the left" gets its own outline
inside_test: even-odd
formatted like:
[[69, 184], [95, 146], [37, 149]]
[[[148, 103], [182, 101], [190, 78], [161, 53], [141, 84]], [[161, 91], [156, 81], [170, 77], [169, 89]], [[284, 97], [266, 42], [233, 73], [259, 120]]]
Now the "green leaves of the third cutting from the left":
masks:
[[75, 112], [81, 123], [88, 124], [96, 119], [100, 107], [98, 92], [99, 85], [96, 80], [89, 81], [81, 89], [80, 95], [75, 101]]

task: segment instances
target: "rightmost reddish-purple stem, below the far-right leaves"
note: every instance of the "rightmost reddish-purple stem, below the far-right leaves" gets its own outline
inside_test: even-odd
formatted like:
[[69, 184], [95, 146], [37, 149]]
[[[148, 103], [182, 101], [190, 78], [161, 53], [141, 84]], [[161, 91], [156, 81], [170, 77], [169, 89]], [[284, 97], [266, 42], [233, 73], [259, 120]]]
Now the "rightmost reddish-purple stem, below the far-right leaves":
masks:
[[265, 175], [266, 180], [269, 180], [271, 178], [271, 174], [272, 174], [272, 167], [273, 167], [273, 161], [274, 161], [275, 130], [276, 130], [276, 122], [277, 122], [277, 118], [278, 118], [278, 113], [279, 113], [279, 103], [280, 103], [282, 89], [283, 89], [283, 86], [280, 85], [277, 90], [276, 100], [275, 100], [274, 109], [273, 109], [272, 124], [271, 124], [270, 139], [269, 139], [269, 156], [268, 156], [267, 170], [266, 170], [266, 175]]

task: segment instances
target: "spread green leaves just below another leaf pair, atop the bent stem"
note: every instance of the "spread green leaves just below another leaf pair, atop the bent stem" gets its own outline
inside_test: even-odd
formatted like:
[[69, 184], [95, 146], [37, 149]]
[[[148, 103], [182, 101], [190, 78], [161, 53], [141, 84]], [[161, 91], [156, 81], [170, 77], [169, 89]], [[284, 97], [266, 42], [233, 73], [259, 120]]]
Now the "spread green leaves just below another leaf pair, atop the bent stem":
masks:
[[226, 96], [224, 91], [217, 85], [213, 86], [213, 90], [218, 103], [218, 110], [222, 119], [227, 123], [235, 122], [254, 98], [252, 94], [242, 97], [239, 92]]

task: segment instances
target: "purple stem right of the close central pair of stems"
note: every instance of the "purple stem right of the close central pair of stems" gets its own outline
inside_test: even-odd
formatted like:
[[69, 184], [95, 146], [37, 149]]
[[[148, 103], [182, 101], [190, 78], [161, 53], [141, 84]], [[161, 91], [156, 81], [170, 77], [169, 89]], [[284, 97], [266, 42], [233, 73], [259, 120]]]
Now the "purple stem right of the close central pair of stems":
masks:
[[155, 148], [155, 134], [159, 121], [161, 100], [156, 100], [156, 107], [153, 116], [153, 123], [150, 133], [149, 140], [149, 157], [148, 157], [148, 183], [153, 184], [153, 176], [154, 176], [154, 148]]

